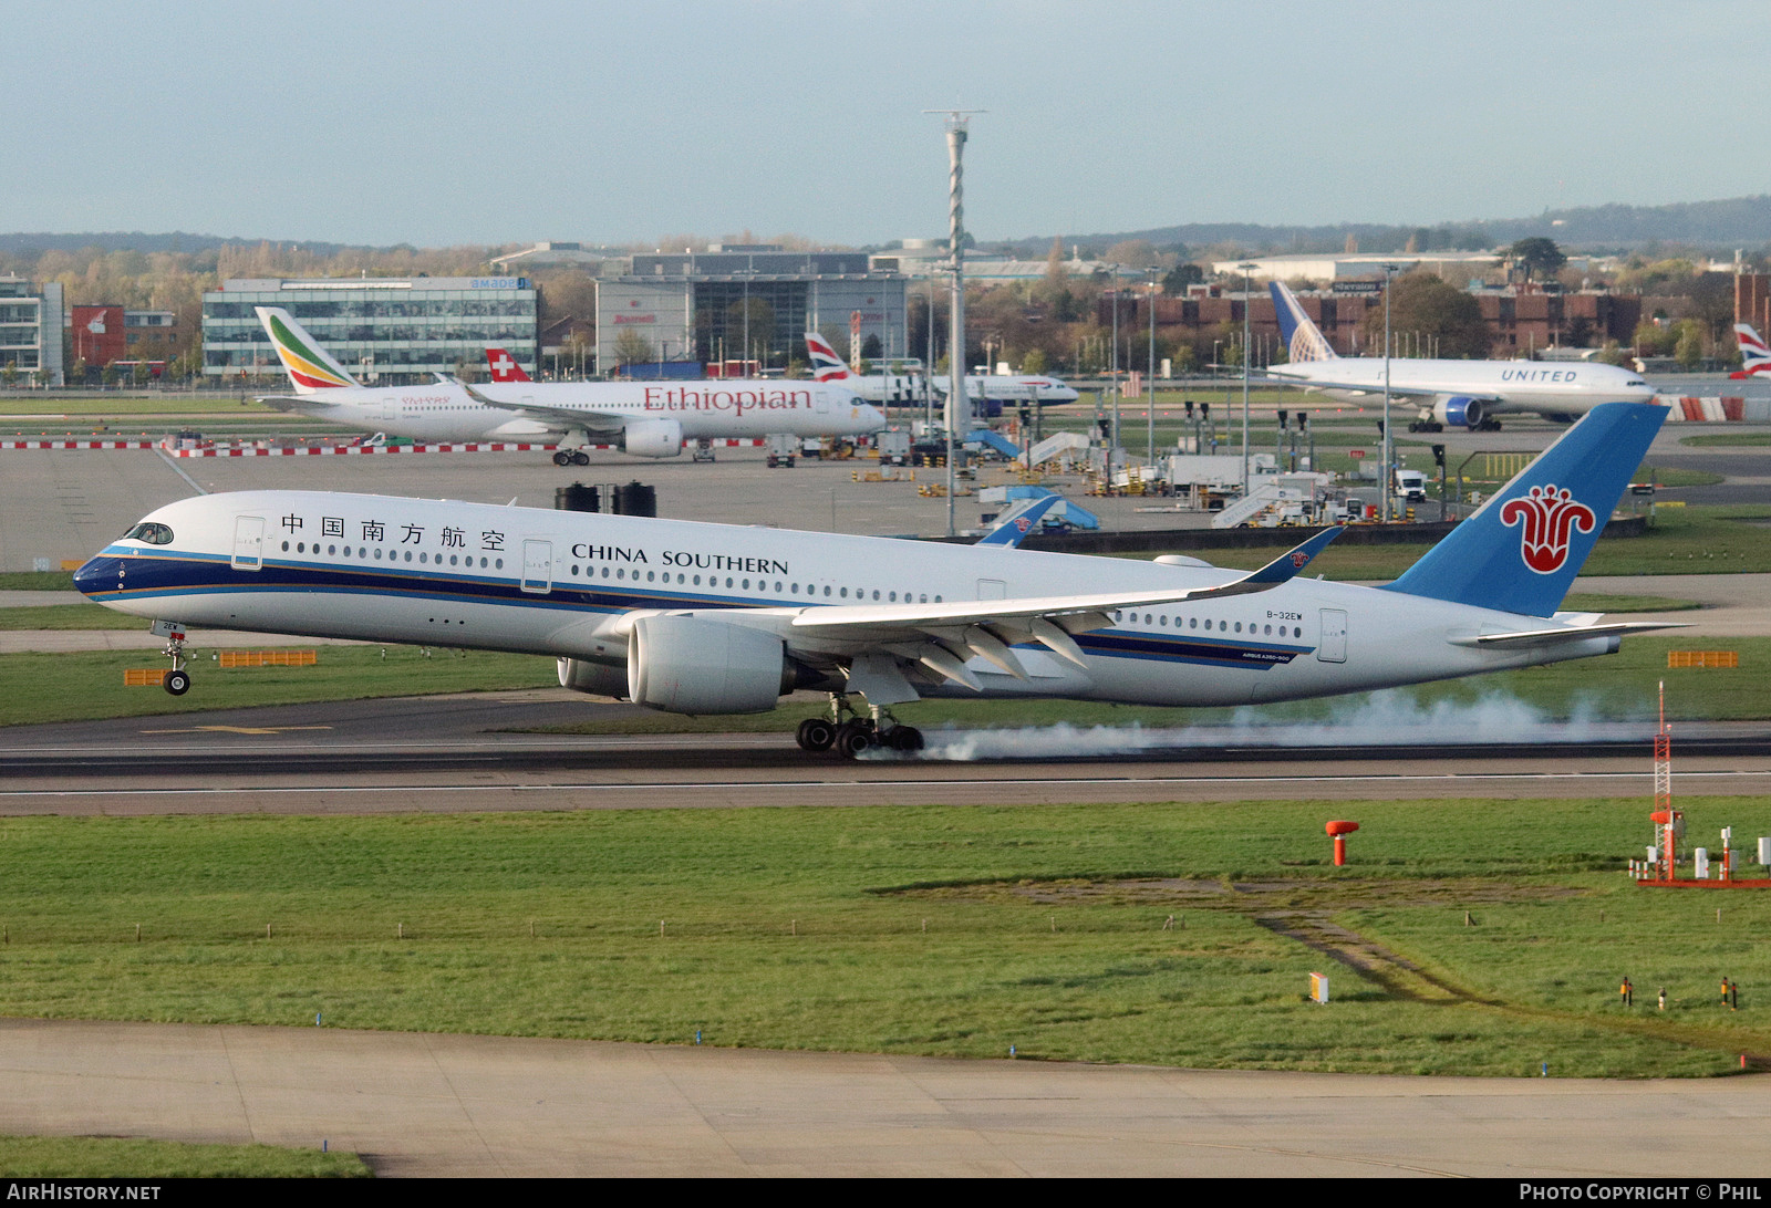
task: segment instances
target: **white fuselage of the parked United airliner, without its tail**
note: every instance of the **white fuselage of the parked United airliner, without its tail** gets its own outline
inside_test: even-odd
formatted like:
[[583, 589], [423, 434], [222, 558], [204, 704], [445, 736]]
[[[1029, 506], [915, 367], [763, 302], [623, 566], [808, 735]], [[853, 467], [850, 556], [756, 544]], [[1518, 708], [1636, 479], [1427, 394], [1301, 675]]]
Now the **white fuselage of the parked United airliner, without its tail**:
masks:
[[[1378, 356], [1337, 356], [1325, 361], [1272, 365], [1268, 377], [1293, 381], [1339, 399], [1383, 393], [1385, 361]], [[1491, 399], [1489, 413], [1539, 411], [1583, 414], [1601, 402], [1649, 402], [1654, 388], [1617, 365], [1562, 361], [1443, 361], [1392, 358], [1390, 386], [1410, 395]], [[1335, 386], [1316, 383], [1335, 383]], [[1404, 399], [1408, 406], [1417, 399]]]

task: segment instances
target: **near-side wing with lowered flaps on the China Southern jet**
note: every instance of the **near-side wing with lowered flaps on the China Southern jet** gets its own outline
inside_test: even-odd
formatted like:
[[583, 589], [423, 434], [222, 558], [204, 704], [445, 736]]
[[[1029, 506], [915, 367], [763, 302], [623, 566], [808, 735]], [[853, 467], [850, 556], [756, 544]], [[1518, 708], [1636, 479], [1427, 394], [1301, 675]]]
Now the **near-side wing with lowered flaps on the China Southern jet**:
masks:
[[1038, 643], [1064, 662], [1086, 668], [1071, 634], [1110, 627], [1112, 609], [1270, 592], [1296, 577], [1341, 531], [1323, 530], [1259, 570], [1213, 586], [940, 604], [770, 608], [751, 609], [751, 616], [776, 620], [776, 632], [797, 655], [839, 664], [850, 682], [864, 678], [870, 700], [901, 703], [919, 696], [903, 677], [910, 664], [972, 691], [981, 691], [981, 684], [965, 666], [971, 657], [981, 657], [1015, 678], [1029, 678], [1013, 650], [1022, 643]]

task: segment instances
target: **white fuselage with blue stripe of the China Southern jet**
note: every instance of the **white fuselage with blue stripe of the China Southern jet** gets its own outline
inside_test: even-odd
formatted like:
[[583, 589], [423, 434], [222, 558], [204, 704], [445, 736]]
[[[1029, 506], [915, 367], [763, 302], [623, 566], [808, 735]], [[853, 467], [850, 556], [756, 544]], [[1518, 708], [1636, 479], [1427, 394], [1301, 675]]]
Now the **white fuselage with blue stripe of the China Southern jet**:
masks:
[[[802, 609], [1215, 586], [1238, 572], [1119, 558], [622, 515], [255, 491], [182, 499], [80, 569], [108, 608], [195, 627], [402, 641], [623, 666], [636, 611], [788, 632]], [[1539, 618], [1318, 579], [1118, 609], [1075, 634], [1084, 666], [1017, 647], [983, 694], [1245, 705], [1606, 654], [1454, 645]], [[792, 634], [788, 632], [792, 639]], [[940, 680], [924, 696], [972, 696]]]

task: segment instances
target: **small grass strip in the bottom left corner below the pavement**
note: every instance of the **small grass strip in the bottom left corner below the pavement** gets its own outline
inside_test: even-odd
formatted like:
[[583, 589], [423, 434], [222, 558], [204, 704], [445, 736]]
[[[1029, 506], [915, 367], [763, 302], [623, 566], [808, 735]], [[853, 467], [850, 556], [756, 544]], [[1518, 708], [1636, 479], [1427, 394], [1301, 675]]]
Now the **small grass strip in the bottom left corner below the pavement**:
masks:
[[370, 1178], [354, 1153], [140, 1137], [0, 1137], [0, 1178]]

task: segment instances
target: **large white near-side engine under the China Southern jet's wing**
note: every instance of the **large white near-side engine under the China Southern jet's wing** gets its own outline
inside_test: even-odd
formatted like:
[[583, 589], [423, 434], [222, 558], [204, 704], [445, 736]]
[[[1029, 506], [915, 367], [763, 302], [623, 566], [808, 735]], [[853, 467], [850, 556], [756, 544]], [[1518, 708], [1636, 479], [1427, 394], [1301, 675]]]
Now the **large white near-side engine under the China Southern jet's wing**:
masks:
[[627, 696], [669, 714], [760, 714], [792, 691], [786, 650], [762, 629], [641, 616], [627, 639]]

